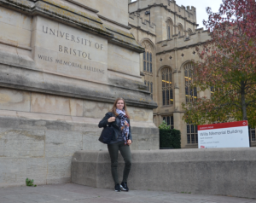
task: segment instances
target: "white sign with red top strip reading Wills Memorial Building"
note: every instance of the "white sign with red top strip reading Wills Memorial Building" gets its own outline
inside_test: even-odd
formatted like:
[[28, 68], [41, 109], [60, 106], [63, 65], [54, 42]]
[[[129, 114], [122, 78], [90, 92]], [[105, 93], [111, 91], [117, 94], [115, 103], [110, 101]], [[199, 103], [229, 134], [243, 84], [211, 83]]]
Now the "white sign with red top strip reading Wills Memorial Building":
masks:
[[198, 125], [198, 148], [249, 148], [247, 120]]

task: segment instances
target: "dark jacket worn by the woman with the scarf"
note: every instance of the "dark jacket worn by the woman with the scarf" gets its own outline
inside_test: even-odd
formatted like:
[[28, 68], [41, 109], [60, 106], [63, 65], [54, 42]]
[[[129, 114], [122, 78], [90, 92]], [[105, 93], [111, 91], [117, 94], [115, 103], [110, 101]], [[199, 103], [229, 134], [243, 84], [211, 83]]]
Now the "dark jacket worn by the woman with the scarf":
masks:
[[[109, 123], [108, 122], [108, 119], [110, 117], [115, 117], [115, 121], [114, 122], [111, 122]], [[130, 125], [130, 119], [127, 119], [127, 122], [129, 124], [129, 135], [128, 135], [128, 140], [131, 140], [132, 142], [132, 136], [131, 136], [131, 125]], [[120, 130], [120, 126], [121, 126], [121, 121], [118, 117], [115, 116], [115, 114], [113, 114], [112, 112], [108, 112], [106, 113], [105, 117], [100, 121], [99, 123], [99, 128], [102, 128], [102, 127], [107, 127], [107, 125], [111, 128], [113, 128], [113, 131], [114, 131], [114, 137], [113, 137], [113, 140], [117, 140], [118, 136], [119, 136], [119, 132], [121, 131]]]

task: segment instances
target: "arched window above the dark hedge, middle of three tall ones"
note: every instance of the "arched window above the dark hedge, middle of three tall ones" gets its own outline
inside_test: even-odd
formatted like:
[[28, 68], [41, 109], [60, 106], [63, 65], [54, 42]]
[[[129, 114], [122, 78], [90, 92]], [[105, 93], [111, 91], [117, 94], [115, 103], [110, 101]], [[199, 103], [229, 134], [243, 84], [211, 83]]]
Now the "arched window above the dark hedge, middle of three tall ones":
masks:
[[163, 106], [173, 104], [172, 70], [166, 67], [162, 70], [162, 99]]

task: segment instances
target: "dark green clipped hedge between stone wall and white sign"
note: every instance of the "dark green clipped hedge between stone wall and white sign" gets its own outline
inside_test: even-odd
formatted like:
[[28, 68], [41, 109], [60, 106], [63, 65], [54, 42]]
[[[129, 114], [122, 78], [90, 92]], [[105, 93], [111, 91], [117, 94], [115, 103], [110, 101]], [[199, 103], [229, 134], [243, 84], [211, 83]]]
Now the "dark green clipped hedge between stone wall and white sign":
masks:
[[180, 131], [174, 129], [160, 129], [160, 148], [181, 148]]

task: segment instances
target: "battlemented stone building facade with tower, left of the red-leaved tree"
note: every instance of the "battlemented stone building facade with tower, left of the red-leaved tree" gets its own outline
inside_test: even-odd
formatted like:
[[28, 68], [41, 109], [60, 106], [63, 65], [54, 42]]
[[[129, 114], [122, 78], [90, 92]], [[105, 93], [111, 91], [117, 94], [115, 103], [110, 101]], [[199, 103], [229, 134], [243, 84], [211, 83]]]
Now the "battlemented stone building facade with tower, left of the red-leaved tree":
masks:
[[[210, 39], [209, 33], [197, 28], [195, 7], [177, 5], [175, 0], [129, 0], [129, 14], [131, 33], [146, 50], [140, 57], [140, 71], [158, 104], [154, 124], [159, 126], [165, 119], [181, 131], [182, 148], [198, 148], [196, 126], [183, 121], [181, 104], [211, 96], [211, 90], [197, 93], [189, 85], [190, 62], [199, 60], [195, 47]], [[250, 141], [256, 146], [255, 129], [250, 130]]]

